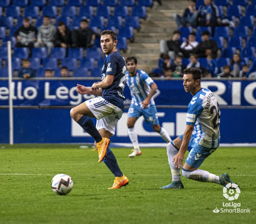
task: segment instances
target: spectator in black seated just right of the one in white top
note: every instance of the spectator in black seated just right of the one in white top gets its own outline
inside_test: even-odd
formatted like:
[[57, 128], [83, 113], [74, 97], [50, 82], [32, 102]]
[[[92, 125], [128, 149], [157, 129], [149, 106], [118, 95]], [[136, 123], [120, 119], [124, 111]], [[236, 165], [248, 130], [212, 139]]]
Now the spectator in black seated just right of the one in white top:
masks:
[[210, 40], [209, 31], [202, 32], [202, 42], [200, 42], [195, 49], [194, 53], [198, 55], [199, 58], [205, 58], [207, 55], [212, 55], [216, 58], [218, 46], [214, 40]]

